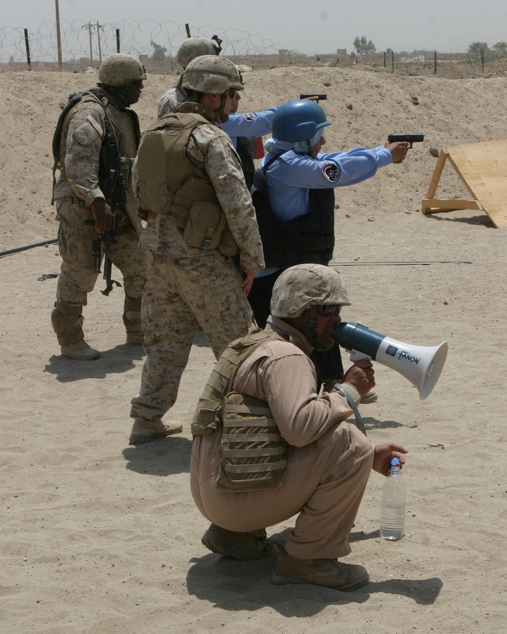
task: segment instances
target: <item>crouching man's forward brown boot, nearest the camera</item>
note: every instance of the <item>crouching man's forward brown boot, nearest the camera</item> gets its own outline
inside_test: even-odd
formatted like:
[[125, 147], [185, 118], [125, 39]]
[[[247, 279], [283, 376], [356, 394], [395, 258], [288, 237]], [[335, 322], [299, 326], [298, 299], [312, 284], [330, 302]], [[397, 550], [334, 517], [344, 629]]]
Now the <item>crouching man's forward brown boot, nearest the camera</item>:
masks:
[[298, 559], [284, 550], [276, 560], [272, 581], [276, 586], [311, 583], [349, 592], [366, 585], [369, 574], [359, 564], [343, 564], [337, 559]]

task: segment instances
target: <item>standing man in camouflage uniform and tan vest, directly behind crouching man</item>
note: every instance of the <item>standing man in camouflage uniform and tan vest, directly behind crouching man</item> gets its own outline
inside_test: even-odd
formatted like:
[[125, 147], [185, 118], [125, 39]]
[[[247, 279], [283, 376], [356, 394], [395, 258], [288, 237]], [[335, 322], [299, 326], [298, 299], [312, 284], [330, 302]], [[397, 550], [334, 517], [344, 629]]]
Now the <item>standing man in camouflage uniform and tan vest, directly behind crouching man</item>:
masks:
[[[198, 325], [219, 358], [248, 333], [246, 295], [264, 256], [252, 198], [229, 136], [215, 122], [228, 119], [242, 90], [234, 64], [215, 55], [192, 60], [183, 74], [186, 94], [177, 112], [144, 133], [134, 181], [148, 249], [143, 307], [143, 375], [132, 399], [130, 444], [181, 431], [162, 417], [176, 401]], [[241, 276], [243, 275], [243, 277]]]

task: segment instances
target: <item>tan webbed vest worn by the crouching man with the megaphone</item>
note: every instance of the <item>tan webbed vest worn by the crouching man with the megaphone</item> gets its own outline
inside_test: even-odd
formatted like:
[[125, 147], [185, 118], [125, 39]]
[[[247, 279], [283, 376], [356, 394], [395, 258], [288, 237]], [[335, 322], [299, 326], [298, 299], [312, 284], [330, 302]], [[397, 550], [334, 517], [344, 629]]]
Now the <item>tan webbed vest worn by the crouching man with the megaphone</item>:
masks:
[[224, 428], [217, 489], [276, 489], [285, 473], [286, 441], [267, 401], [231, 392], [241, 363], [269, 340], [285, 341], [274, 332], [251, 328], [226, 348], [212, 370], [192, 420], [193, 436]]

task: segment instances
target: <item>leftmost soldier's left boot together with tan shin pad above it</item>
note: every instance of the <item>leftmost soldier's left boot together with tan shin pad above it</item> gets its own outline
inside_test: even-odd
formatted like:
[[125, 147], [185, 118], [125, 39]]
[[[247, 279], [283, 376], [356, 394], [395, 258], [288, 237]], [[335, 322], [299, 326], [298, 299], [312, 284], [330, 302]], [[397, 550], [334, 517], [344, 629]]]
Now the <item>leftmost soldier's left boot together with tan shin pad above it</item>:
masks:
[[55, 308], [51, 313], [51, 324], [56, 332], [56, 337], [58, 337], [61, 354], [81, 361], [98, 359], [99, 351], [94, 350], [84, 340], [81, 313], [82, 306], [70, 306], [70, 304], [55, 302]]

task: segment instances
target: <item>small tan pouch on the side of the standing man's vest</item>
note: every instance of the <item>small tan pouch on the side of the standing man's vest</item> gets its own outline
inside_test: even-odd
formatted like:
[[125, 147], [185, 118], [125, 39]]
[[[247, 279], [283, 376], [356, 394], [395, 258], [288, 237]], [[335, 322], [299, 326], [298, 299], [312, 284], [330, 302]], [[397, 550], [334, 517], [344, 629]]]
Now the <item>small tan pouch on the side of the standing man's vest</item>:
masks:
[[190, 209], [183, 240], [198, 249], [216, 249], [226, 224], [226, 217], [218, 203], [198, 200]]

